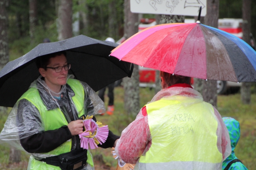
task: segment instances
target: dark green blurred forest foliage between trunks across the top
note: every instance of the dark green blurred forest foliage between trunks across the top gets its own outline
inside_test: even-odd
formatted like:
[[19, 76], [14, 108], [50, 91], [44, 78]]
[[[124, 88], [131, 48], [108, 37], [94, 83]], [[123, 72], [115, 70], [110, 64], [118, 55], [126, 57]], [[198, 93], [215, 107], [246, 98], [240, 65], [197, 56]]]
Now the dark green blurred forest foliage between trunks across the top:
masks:
[[[124, 35], [124, 0], [73, 0], [73, 23], [79, 22], [73, 36], [86, 35], [116, 41]], [[29, 1], [11, 0], [7, 8], [10, 60], [21, 57], [49, 38], [58, 41], [58, 0], [37, 0], [34, 39], [30, 38]], [[241, 0], [220, 0], [219, 18], [242, 18]], [[139, 18], [155, 18], [143, 14]], [[186, 17], [191, 18], [191, 17]], [[256, 36], [256, 1], [251, 5], [251, 32]]]

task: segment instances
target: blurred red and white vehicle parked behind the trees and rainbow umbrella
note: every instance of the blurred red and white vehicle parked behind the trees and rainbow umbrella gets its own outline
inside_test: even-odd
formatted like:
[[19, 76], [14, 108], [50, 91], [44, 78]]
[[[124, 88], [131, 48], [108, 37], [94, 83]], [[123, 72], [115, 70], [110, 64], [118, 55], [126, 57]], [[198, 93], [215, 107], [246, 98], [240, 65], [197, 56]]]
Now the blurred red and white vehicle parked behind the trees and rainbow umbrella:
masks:
[[[185, 23], [195, 23], [194, 19], [185, 19]], [[242, 32], [242, 23], [243, 19], [235, 19], [235, 18], [223, 18], [219, 19], [219, 29], [226, 31], [232, 35], [235, 35], [236, 37], [242, 38], [243, 32]], [[155, 26], [156, 21], [155, 19], [141, 19], [141, 24], [139, 24], [139, 30], [141, 31], [143, 29], [146, 29], [147, 27]], [[252, 35], [250, 35], [250, 46], [252, 48], [256, 49], [256, 43]], [[117, 41], [118, 44], [121, 44], [125, 41], [125, 38], [122, 37], [119, 41]], [[154, 88], [155, 85], [155, 77], [156, 77], [156, 71], [151, 68], [145, 68], [139, 66], [139, 86], [140, 87], [149, 87]], [[230, 88], [233, 88], [234, 90], [239, 90], [242, 83], [237, 82], [230, 82], [230, 81], [217, 81], [217, 93], [224, 94], [229, 90]]]

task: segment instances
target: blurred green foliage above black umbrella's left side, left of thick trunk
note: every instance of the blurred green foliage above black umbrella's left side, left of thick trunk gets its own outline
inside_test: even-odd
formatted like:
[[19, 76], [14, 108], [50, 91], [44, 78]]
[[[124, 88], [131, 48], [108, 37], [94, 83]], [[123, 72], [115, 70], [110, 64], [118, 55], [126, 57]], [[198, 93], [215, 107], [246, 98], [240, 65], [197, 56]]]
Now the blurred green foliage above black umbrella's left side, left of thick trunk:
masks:
[[37, 0], [37, 26], [35, 40], [31, 44], [29, 36], [28, 0], [12, 0], [8, 7], [8, 39], [10, 60], [28, 53], [35, 46], [49, 38], [57, 41], [56, 10], [54, 0]]

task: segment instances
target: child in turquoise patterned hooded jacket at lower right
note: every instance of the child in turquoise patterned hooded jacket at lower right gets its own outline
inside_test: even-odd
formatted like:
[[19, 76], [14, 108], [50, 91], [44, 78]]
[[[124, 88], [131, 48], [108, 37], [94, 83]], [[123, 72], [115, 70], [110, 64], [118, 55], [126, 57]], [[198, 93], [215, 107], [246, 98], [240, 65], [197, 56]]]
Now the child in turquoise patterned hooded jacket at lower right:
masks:
[[240, 139], [240, 125], [236, 119], [232, 117], [223, 117], [222, 118], [230, 136], [231, 141], [231, 154], [223, 161], [222, 170], [248, 170], [245, 165], [236, 157], [235, 148]]

